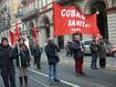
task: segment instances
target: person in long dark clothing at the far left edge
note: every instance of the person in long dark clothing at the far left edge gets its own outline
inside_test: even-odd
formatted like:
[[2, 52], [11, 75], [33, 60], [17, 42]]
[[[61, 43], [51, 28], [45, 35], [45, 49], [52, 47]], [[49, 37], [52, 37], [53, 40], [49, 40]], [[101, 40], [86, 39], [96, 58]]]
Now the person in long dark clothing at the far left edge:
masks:
[[6, 87], [15, 87], [15, 72], [12, 57], [12, 48], [8, 39], [2, 37], [0, 44], [0, 70]]

